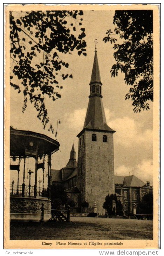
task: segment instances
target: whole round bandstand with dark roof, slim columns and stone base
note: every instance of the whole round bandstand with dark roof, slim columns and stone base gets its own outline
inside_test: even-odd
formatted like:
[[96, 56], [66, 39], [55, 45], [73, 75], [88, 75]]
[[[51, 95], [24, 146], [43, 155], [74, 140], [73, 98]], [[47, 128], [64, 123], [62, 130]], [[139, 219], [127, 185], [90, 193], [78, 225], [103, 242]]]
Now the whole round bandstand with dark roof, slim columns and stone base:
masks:
[[[46, 135], [10, 128], [10, 170], [17, 171], [16, 184], [14, 181], [10, 184], [11, 220], [39, 221], [41, 209], [44, 209], [45, 221], [51, 218], [51, 156], [59, 150], [59, 146], [57, 140]], [[31, 158], [34, 159], [34, 169], [28, 170], [27, 161]], [[21, 160], [23, 160], [22, 168], [20, 168]], [[47, 175], [45, 175], [46, 166]], [[42, 180], [38, 181], [39, 169], [42, 170]], [[27, 175], [28, 183], [25, 178]], [[20, 180], [22, 180], [21, 184]], [[32, 182], [34, 186], [31, 185]]]

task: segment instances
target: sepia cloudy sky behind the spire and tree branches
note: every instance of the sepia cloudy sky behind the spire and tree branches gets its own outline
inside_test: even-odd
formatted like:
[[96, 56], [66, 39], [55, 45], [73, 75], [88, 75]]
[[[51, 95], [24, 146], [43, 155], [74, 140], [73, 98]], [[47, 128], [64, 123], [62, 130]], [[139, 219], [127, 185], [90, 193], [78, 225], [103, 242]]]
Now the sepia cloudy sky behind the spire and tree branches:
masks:
[[[152, 103], [150, 110], [134, 113], [131, 101], [125, 101], [129, 86], [125, 85], [124, 75], [119, 73], [111, 78], [110, 68], [115, 63], [114, 50], [110, 43], [102, 39], [107, 29], [114, 29], [112, 24], [114, 11], [85, 11], [83, 26], [86, 28], [87, 56], [64, 55], [69, 63], [73, 79], [60, 80], [62, 97], [55, 102], [46, 101], [50, 122], [56, 130], [60, 150], [52, 156], [52, 169], [66, 166], [72, 144], [75, 145], [76, 159], [78, 139], [76, 135], [82, 130], [88, 106], [89, 82], [94, 60], [94, 40], [98, 39], [97, 56], [101, 74], [103, 105], [108, 125], [116, 130], [114, 134], [115, 174], [129, 175], [134, 173], [146, 182], [152, 182]], [[37, 119], [34, 107], [28, 103], [22, 113], [23, 95], [11, 88], [11, 125], [13, 128], [32, 130], [55, 139], [48, 129], [44, 130]]]

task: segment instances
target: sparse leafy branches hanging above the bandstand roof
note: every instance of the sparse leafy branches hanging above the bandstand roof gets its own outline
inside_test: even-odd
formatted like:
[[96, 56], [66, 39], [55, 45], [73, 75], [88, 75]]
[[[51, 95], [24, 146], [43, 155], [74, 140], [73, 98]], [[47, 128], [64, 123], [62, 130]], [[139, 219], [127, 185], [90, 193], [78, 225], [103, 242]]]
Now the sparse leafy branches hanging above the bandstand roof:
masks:
[[[59, 76], [61, 75], [63, 80], [73, 78], [72, 74], [65, 72], [65, 69], [69, 68], [69, 63], [61, 59], [62, 54], [71, 54], [77, 50], [78, 55], [87, 55], [86, 41], [83, 40], [86, 36], [85, 29], [81, 28], [82, 33], [77, 34], [77, 30], [80, 29], [77, 29], [76, 19], [79, 19], [83, 12], [31, 11], [25, 12], [24, 15], [21, 13], [19, 19], [18, 15], [19, 13], [16, 18], [10, 12], [10, 52], [14, 63], [11, 86], [24, 95], [23, 112], [30, 101], [45, 129], [49, 122], [45, 106], [46, 96], [53, 101], [59, 99], [61, 94], [56, 92], [56, 89], [63, 88]], [[73, 27], [71, 31], [70, 20]], [[79, 22], [79, 25], [82, 23]], [[58, 70], [61, 73], [57, 73]], [[52, 124], [49, 130], [53, 132]]]

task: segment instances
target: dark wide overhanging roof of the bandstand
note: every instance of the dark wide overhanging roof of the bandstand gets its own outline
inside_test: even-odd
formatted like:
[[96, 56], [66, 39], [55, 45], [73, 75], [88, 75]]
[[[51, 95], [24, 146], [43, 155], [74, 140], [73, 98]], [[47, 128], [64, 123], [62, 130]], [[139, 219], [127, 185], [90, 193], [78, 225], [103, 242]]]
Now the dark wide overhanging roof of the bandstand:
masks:
[[59, 142], [41, 133], [10, 127], [10, 155], [31, 156], [52, 154], [59, 150]]

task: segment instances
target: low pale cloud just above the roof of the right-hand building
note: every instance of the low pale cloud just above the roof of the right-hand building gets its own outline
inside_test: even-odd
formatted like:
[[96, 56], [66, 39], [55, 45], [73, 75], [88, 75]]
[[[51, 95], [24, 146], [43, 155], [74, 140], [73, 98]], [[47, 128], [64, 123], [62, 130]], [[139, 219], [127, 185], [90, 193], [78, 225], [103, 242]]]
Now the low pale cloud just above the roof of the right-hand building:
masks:
[[134, 168], [126, 167], [124, 165], [115, 169], [115, 175], [128, 176], [134, 174], [137, 178], [146, 183], [150, 181], [152, 185], [153, 181], [153, 163], [151, 159], [144, 159], [141, 163], [136, 164]]

